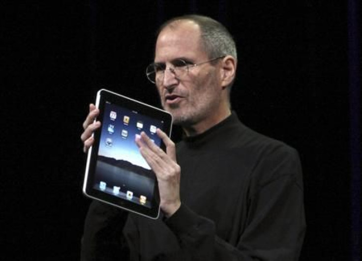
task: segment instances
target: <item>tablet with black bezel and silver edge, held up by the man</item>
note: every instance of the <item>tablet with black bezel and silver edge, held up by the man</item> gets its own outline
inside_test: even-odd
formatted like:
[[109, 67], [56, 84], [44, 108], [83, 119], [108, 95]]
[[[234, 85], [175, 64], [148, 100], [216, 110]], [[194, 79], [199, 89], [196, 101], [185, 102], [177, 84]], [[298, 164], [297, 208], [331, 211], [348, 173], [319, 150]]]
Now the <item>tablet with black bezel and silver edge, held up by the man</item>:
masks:
[[135, 138], [144, 131], [165, 150], [159, 128], [171, 135], [172, 116], [151, 105], [101, 89], [96, 107], [101, 127], [88, 151], [83, 193], [92, 199], [152, 219], [159, 215], [155, 174], [139, 152]]

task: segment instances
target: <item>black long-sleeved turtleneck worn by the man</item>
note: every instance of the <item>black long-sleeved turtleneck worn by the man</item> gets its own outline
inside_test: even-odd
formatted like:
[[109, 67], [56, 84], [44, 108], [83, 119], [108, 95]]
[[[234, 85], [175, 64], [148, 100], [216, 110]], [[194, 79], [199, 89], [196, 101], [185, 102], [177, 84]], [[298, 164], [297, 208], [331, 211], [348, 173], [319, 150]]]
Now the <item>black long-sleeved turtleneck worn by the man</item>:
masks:
[[[232, 113], [184, 138], [177, 160], [181, 207], [169, 219], [128, 214], [119, 240], [119, 249], [128, 249], [123, 255], [132, 261], [298, 260], [305, 221], [295, 149], [252, 131]], [[112, 215], [121, 223], [112, 213], [106, 223]]]

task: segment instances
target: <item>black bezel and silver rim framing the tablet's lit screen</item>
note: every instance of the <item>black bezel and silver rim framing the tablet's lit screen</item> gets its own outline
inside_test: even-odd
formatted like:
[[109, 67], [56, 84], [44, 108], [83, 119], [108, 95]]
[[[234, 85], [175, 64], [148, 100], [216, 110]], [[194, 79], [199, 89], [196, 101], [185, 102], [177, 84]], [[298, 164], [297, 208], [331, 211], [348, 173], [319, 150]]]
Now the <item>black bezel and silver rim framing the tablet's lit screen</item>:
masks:
[[[165, 132], [169, 137], [171, 136], [172, 130], [172, 116], [170, 113], [153, 107], [151, 105], [145, 104], [143, 102], [131, 99], [129, 97], [123, 96], [121, 94], [115, 93], [113, 91], [107, 89], [100, 89], [97, 92], [97, 98], [95, 106], [99, 109], [99, 116], [96, 120], [102, 120], [104, 118], [104, 108], [106, 103], [114, 104], [118, 107], [123, 107], [131, 111], [135, 111], [138, 114], [148, 116], [151, 118], [155, 118], [156, 120], [163, 121], [162, 131]], [[102, 122], [101, 122], [102, 123]], [[133, 213], [137, 213], [143, 216], [146, 216], [151, 219], [157, 219], [159, 216], [159, 192], [158, 192], [158, 183], [157, 179], [154, 175], [154, 188], [153, 188], [153, 197], [151, 201], [151, 208], [146, 207], [141, 204], [132, 203], [129, 200], [122, 199], [120, 197], [116, 197], [110, 195], [108, 193], [102, 192], [100, 190], [96, 190], [93, 188], [95, 184], [95, 170], [96, 170], [96, 163], [98, 157], [98, 150], [100, 145], [100, 137], [101, 137], [102, 128], [97, 129], [93, 133], [94, 143], [90, 147], [87, 156], [87, 164], [86, 164], [86, 173], [84, 177], [83, 183], [83, 193], [92, 199], [108, 203], [114, 205], [116, 207], [120, 207], [127, 211], [131, 211]], [[160, 144], [161, 149], [165, 151], [165, 145], [161, 140]]]

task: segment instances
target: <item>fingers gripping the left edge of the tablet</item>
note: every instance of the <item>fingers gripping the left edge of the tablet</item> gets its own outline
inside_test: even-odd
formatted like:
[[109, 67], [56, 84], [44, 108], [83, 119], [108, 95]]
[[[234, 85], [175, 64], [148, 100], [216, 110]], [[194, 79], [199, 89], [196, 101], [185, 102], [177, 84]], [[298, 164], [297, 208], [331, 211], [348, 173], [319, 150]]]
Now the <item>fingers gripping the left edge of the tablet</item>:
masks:
[[99, 110], [95, 107], [94, 104], [89, 105], [89, 114], [86, 120], [83, 122], [84, 132], [81, 135], [81, 140], [83, 142], [83, 151], [86, 153], [88, 149], [93, 145], [94, 138], [92, 136], [93, 132], [98, 129], [101, 125], [100, 121], [97, 120], [94, 122], [96, 116], [99, 115]]

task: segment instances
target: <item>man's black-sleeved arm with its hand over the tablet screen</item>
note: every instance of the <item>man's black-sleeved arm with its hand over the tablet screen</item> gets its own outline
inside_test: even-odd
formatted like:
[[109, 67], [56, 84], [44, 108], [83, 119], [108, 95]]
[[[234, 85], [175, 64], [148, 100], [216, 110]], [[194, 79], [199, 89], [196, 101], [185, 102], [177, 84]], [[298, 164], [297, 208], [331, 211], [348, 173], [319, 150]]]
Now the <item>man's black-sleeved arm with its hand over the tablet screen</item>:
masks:
[[[169, 202], [181, 202], [180, 195], [175, 193], [179, 191], [177, 186], [175, 189], [175, 181], [179, 180], [180, 169], [166, 166], [170, 160], [174, 161], [172, 165], [176, 164], [176, 156], [170, 155], [170, 152], [174, 153], [172, 143], [167, 136], [160, 135], [166, 147], [170, 146], [162, 154], [145, 135], [141, 137], [142, 140], [137, 141], [137, 144], [142, 155], [157, 179], [162, 178], [163, 186], [159, 190], [161, 209], [168, 217], [166, 224], [180, 242], [180, 253], [170, 254], [172, 256], [165, 260], [298, 260], [305, 221], [302, 171], [295, 151], [273, 151], [256, 168], [248, 199], [247, 226], [240, 232], [237, 243], [232, 245], [216, 235], [213, 221], [198, 215], [187, 206], [180, 203], [177, 208], [163, 207], [162, 195], [175, 196], [173, 201], [168, 198]], [[167, 186], [168, 180], [171, 182], [170, 186]]]

